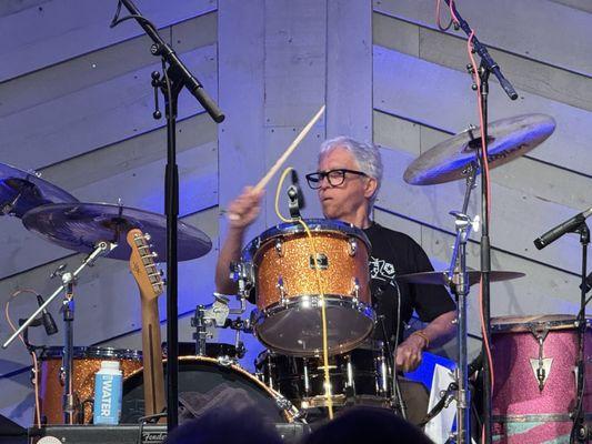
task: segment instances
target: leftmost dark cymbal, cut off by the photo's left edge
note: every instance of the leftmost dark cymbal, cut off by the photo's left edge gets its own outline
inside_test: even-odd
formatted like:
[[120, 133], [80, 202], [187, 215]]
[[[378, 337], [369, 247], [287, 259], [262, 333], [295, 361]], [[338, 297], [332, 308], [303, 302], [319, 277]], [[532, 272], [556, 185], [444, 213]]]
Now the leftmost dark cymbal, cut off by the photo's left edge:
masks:
[[0, 215], [22, 218], [47, 203], [78, 202], [73, 195], [39, 178], [34, 172], [0, 163]]

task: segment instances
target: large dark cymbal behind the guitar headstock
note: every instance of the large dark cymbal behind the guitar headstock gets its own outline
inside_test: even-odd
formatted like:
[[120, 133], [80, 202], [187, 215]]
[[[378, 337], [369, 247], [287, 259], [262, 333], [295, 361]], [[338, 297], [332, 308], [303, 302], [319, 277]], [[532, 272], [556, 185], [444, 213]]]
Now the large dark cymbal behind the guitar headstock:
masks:
[[[167, 260], [167, 218], [109, 203], [56, 203], [38, 206], [22, 218], [27, 230], [69, 250], [90, 253], [98, 242], [114, 242], [107, 258], [129, 260], [131, 249], [126, 235], [131, 229], [150, 234], [157, 262]], [[188, 261], [212, 249], [210, 238], [181, 221], [178, 223], [178, 260]]]

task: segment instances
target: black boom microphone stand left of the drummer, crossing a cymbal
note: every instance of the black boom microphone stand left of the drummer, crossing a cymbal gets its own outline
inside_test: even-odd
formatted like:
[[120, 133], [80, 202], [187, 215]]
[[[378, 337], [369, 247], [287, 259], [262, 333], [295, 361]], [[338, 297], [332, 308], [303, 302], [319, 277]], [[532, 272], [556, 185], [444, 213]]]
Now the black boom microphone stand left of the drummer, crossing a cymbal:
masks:
[[[131, 16], [118, 19], [123, 4]], [[167, 118], [167, 167], [164, 179], [164, 211], [167, 214], [167, 430], [171, 432], [179, 424], [179, 307], [178, 307], [178, 263], [177, 238], [179, 216], [179, 172], [177, 167], [177, 105], [179, 93], [187, 87], [198, 99], [210, 117], [220, 123], [224, 114], [203, 91], [201, 83], [189, 72], [172, 48], [159, 36], [157, 28], [140, 14], [131, 0], [119, 0], [116, 18], [111, 28], [123, 20], [136, 19], [146, 33], [152, 39], [150, 52], [162, 58], [163, 81], [160, 75], [152, 75], [152, 84], [160, 88], [164, 97]], [[169, 65], [165, 69], [165, 65]], [[158, 118], [159, 111], [153, 114]]]

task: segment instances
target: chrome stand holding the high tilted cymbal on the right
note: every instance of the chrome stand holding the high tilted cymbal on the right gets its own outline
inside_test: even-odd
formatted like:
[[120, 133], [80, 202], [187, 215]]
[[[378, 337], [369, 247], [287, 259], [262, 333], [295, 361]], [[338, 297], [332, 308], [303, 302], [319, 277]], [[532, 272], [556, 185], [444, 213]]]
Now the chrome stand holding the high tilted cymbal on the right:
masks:
[[456, 381], [456, 435], [455, 442], [459, 444], [470, 443], [471, 440], [471, 393], [469, 389], [468, 353], [466, 353], [466, 296], [469, 295], [469, 276], [466, 274], [466, 241], [471, 234], [473, 225], [479, 223], [479, 216], [471, 220], [466, 215], [471, 190], [475, 185], [478, 168], [471, 163], [466, 175], [466, 188], [462, 211], [452, 211], [454, 215], [454, 226], [456, 239], [452, 252], [452, 261], [448, 275], [449, 286], [456, 299], [456, 343], [458, 343], [458, 365], [454, 373]]

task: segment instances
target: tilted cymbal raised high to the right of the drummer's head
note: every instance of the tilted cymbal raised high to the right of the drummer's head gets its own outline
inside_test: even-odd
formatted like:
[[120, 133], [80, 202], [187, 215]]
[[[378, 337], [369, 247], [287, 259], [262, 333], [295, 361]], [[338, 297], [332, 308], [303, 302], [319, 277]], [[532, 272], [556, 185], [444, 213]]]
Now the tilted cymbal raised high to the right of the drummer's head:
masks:
[[[503, 165], [544, 142], [555, 130], [545, 114], [523, 114], [498, 120], [488, 127], [489, 168]], [[463, 179], [468, 167], [476, 165], [481, 147], [479, 128], [463, 131], [432, 147], [407, 168], [403, 179], [412, 185], [432, 185]]]

